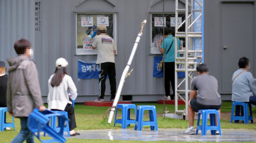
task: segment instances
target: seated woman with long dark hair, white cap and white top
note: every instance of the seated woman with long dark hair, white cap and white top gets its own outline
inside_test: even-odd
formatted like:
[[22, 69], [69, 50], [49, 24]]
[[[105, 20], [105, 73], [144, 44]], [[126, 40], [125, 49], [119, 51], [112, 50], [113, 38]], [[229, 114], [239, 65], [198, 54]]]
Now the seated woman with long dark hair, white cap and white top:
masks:
[[[75, 132], [76, 119], [72, 100], [77, 97], [76, 85], [71, 76], [67, 75], [68, 62], [65, 58], [58, 58], [56, 60], [56, 69], [48, 81], [48, 109], [57, 111], [66, 111], [69, 117], [69, 134], [77, 136], [79, 133]], [[68, 95], [68, 92], [71, 95]]]

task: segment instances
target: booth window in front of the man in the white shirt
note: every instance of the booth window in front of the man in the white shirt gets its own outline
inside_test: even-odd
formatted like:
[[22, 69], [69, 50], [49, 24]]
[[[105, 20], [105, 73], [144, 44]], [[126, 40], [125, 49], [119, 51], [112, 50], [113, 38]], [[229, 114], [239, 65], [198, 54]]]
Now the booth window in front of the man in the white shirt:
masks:
[[116, 13], [111, 12], [76, 12], [76, 55], [96, 55], [92, 49], [92, 27], [106, 25], [107, 35], [116, 42]]

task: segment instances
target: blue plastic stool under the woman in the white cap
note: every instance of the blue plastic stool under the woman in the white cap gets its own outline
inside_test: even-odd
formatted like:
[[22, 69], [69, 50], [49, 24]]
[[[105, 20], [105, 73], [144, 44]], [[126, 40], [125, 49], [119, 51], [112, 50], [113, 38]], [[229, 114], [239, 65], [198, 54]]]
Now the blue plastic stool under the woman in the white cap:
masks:
[[[68, 119], [66, 111], [53, 111], [53, 112], [57, 113], [57, 114], [62, 114], [62, 115], [64, 115]], [[57, 116], [51, 117], [51, 127], [56, 132], [60, 132], [61, 131], [61, 126], [60, 126], [60, 122], [61, 121], [60, 121], [60, 119], [61, 118], [59, 118]], [[69, 122], [68, 121], [66, 121], [66, 125], [64, 126], [64, 132], [67, 132], [67, 136], [70, 137], [70, 134], [69, 134]]]

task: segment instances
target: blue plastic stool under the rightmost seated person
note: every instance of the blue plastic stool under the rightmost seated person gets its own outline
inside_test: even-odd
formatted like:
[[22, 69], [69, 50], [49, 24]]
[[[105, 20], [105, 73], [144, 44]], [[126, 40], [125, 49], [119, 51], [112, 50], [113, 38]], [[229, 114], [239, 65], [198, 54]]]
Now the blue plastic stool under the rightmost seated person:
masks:
[[[249, 112], [248, 112], [248, 106], [249, 106]], [[243, 110], [241, 109], [240, 114], [240, 108], [243, 107]], [[235, 116], [234, 116], [235, 111]], [[244, 102], [233, 102], [232, 104], [232, 111], [231, 111], [231, 119], [230, 122], [232, 123], [235, 120], [237, 121], [244, 121], [245, 124], [249, 124], [249, 121], [251, 123], [254, 122], [254, 119], [252, 118], [252, 105], [250, 103], [244, 103]]]

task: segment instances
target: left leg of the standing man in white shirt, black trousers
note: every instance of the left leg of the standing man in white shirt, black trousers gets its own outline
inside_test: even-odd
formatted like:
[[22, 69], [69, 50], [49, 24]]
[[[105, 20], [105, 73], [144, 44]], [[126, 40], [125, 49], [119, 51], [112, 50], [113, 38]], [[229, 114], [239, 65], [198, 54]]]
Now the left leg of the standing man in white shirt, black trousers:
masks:
[[106, 90], [107, 63], [99, 64], [99, 98], [104, 99]]

